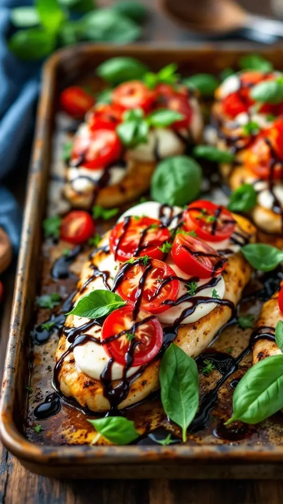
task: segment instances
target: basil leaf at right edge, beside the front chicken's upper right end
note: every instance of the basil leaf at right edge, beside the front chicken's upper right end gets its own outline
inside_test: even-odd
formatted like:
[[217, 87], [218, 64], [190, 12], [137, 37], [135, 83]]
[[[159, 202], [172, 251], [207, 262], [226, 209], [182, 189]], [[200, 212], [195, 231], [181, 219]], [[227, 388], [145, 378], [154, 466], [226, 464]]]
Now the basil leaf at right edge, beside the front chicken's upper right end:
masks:
[[283, 261], [283, 252], [266, 243], [249, 243], [241, 251], [256, 270], [272, 271]]

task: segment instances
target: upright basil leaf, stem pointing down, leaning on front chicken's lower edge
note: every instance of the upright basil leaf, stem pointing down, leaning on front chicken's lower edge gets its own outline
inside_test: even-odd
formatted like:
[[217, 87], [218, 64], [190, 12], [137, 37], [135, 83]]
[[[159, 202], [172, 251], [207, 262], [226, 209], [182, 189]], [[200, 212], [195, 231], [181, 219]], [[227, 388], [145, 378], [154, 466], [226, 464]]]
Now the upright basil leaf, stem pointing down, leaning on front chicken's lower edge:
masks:
[[165, 413], [182, 428], [185, 442], [198, 408], [198, 372], [195, 361], [174, 343], [161, 361], [160, 386]]

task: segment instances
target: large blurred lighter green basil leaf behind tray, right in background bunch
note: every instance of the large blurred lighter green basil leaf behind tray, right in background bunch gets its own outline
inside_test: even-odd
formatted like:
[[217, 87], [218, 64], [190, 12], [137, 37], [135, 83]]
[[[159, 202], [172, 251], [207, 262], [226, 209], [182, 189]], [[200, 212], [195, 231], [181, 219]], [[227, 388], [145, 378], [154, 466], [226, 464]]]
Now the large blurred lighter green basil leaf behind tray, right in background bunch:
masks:
[[82, 19], [82, 36], [95, 42], [127, 44], [139, 38], [140, 28], [111, 9], [97, 9]]

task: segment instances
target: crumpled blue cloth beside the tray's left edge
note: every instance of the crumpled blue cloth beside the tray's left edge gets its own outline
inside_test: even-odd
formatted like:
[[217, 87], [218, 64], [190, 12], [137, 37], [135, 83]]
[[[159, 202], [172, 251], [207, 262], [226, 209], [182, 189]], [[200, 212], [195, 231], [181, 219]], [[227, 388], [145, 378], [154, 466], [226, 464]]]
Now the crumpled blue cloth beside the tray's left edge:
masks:
[[[15, 166], [32, 128], [33, 105], [39, 90], [40, 64], [19, 61], [6, 43], [11, 8], [28, 4], [0, 0], [0, 184]], [[19, 209], [15, 198], [4, 187], [0, 187], [0, 226], [8, 232], [17, 251], [21, 231]]]

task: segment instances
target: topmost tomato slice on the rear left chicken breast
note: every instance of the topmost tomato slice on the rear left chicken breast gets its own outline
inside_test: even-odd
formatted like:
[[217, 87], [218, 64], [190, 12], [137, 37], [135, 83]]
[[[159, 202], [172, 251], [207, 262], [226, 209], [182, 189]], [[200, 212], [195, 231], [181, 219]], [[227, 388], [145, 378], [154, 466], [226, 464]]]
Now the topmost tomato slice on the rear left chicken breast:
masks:
[[124, 82], [113, 91], [113, 103], [123, 108], [142, 108], [148, 112], [154, 102], [155, 93], [140, 81]]

